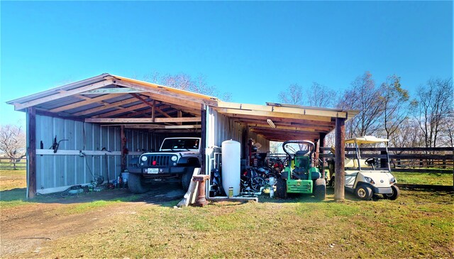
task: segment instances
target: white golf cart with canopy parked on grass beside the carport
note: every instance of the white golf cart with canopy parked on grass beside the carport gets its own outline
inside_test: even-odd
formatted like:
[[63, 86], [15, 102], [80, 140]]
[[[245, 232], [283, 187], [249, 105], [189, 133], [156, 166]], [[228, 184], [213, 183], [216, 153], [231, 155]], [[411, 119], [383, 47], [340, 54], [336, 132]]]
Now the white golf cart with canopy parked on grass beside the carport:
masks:
[[[358, 198], [369, 200], [374, 194], [383, 194], [385, 199], [397, 199], [399, 197], [399, 187], [396, 178], [391, 174], [388, 155], [388, 139], [376, 138], [374, 136], [362, 136], [345, 140], [345, 144], [355, 145], [356, 158], [345, 158], [345, 190], [353, 192]], [[361, 158], [360, 145], [371, 143], [384, 143], [387, 153], [387, 168], [376, 168], [377, 159]], [[335, 174], [334, 160], [328, 161], [331, 186], [334, 186]]]

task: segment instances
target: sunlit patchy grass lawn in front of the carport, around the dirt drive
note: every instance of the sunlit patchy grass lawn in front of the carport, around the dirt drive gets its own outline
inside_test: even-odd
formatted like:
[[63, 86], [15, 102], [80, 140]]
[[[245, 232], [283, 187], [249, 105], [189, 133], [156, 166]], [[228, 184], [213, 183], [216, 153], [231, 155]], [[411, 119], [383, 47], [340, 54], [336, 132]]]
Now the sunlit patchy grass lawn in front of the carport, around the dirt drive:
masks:
[[[24, 180], [13, 181], [24, 178], [23, 171], [0, 173], [2, 193], [24, 187]], [[58, 219], [96, 211], [105, 216], [94, 230], [45, 241], [39, 253], [13, 257], [453, 258], [453, 197], [452, 192], [402, 190], [396, 201], [362, 202], [347, 195], [338, 203], [330, 190], [324, 202], [302, 196], [184, 209], [173, 209], [179, 201], [153, 205], [128, 199], [52, 204], [46, 213]], [[40, 202], [9, 194], [1, 199], [6, 214]], [[118, 213], [125, 204], [128, 209]]]

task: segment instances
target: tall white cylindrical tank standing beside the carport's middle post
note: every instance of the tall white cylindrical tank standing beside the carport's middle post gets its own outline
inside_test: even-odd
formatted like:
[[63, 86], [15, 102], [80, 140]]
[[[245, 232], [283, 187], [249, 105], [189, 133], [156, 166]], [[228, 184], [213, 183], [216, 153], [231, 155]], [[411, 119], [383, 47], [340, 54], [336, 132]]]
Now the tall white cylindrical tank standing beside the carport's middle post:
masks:
[[222, 187], [225, 192], [233, 187], [233, 196], [240, 194], [240, 150], [238, 141], [226, 140], [222, 143]]

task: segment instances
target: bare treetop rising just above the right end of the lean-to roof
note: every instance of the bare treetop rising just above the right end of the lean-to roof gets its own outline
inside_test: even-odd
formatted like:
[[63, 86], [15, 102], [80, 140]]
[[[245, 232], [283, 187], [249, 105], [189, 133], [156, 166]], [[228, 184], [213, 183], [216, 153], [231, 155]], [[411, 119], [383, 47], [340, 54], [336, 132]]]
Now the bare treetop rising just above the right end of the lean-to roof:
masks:
[[326, 85], [313, 82], [306, 90], [307, 104], [313, 107], [334, 107], [336, 105], [337, 93]]

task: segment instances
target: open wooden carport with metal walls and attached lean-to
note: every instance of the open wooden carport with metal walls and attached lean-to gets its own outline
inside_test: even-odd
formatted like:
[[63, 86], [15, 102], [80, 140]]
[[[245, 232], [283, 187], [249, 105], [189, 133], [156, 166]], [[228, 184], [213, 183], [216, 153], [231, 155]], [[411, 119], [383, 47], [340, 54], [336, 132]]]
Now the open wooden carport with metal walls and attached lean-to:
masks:
[[[241, 143], [242, 159], [253, 138], [309, 139], [323, 146], [336, 128], [336, 171], [343, 172], [345, 120], [358, 111], [284, 104], [223, 102], [216, 97], [102, 74], [8, 101], [27, 114], [27, 194], [58, 192], [87, 184], [93, 175], [113, 180], [128, 160], [157, 150], [169, 136], [200, 136], [201, 172], [209, 173], [223, 140]], [[339, 154], [337, 154], [339, 152]], [[342, 176], [343, 174], [339, 174]], [[336, 177], [337, 181], [342, 177]], [[336, 198], [343, 199], [343, 189]]]

